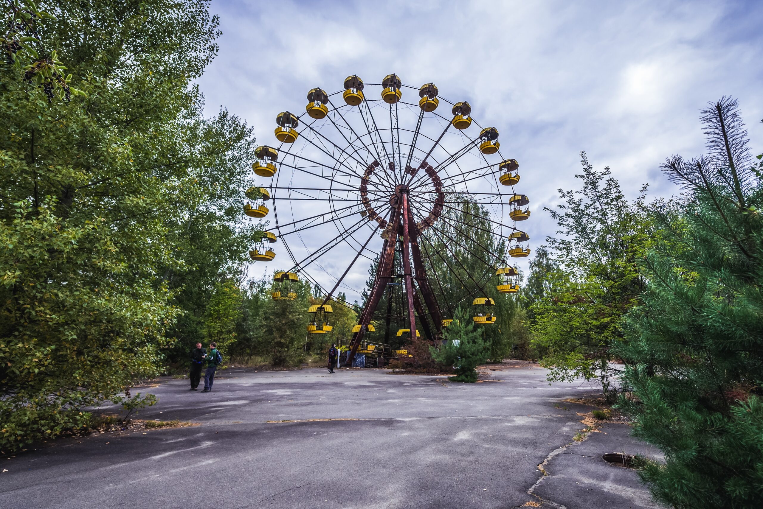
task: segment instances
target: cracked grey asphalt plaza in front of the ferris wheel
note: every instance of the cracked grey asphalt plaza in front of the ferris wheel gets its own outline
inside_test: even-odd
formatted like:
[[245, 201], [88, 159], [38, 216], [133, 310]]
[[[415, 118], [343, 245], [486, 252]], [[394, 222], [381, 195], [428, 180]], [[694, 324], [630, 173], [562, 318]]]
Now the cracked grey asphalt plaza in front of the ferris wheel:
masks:
[[626, 424], [572, 440], [592, 407], [564, 400], [595, 386], [549, 386], [536, 366], [475, 384], [387, 373], [225, 370], [204, 394], [162, 379], [134, 389], [159, 398], [137, 418], [197, 426], [0, 459], [0, 507], [657, 507], [636, 472], [601, 459], [658, 456]]

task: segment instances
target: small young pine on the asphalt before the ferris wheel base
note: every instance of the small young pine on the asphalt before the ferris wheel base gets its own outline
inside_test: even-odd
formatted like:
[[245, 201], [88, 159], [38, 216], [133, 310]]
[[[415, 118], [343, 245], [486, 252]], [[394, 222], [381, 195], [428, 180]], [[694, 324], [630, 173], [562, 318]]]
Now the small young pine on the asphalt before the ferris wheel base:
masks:
[[475, 322], [468, 309], [456, 309], [453, 322], [445, 329], [445, 338], [439, 350], [431, 347], [434, 359], [452, 366], [456, 376], [453, 382], [476, 382], [477, 367], [488, 359], [490, 347], [482, 341], [481, 331], [475, 331]]

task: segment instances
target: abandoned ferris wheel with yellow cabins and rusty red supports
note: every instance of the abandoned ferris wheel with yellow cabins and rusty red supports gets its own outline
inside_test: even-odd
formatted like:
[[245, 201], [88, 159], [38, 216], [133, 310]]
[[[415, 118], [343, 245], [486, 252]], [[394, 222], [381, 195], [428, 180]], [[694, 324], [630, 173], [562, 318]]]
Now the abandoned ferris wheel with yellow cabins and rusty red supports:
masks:
[[[530, 255], [530, 236], [517, 226], [530, 217], [528, 198], [514, 190], [519, 165], [501, 154], [497, 128], [481, 126], [471, 114], [468, 102], [447, 101], [433, 83], [412, 87], [391, 74], [365, 84], [352, 75], [340, 91], [309, 91], [303, 113], [278, 114], [278, 143], [256, 149], [258, 185], [246, 191], [244, 212], [268, 217], [272, 228], [250, 256], [272, 261], [282, 251], [281, 266], [290, 268], [275, 274], [274, 299], [295, 299], [289, 285], [300, 277], [324, 290], [323, 303], [309, 310], [308, 332], [331, 330], [329, 299], [359, 294], [365, 277], [348, 277], [350, 270], [359, 260], [378, 260], [350, 359], [373, 330], [372, 319], [383, 315], [376, 307], [391, 285], [404, 296], [407, 329], [401, 331], [410, 337], [420, 335], [417, 317], [430, 341], [452, 322], [440, 311], [442, 286], [430, 281], [435, 264], [453, 272], [462, 264], [449, 252], [449, 232], [468, 236], [478, 228], [503, 238], [510, 257]], [[470, 213], [465, 200], [488, 211], [482, 226], [458, 219]], [[493, 324], [494, 300], [484, 288], [497, 276], [498, 292], [518, 292], [517, 268], [489, 249], [465, 255], [491, 258], [489, 273], [469, 274], [468, 283], [475, 288], [475, 322]]]

